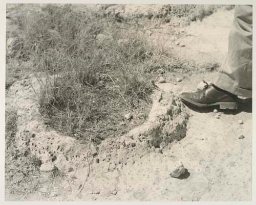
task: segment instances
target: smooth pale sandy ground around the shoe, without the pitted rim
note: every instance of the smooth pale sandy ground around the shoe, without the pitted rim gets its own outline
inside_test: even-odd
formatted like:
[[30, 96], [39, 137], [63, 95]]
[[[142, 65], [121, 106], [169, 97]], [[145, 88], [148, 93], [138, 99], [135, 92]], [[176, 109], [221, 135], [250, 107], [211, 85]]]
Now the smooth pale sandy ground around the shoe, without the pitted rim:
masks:
[[[175, 39], [184, 47], [175, 46], [174, 41], [167, 44], [180, 58], [221, 63], [227, 52], [232, 15], [232, 10], [218, 11], [202, 22], [191, 23], [183, 29], [184, 35]], [[157, 35], [154, 33], [152, 38]], [[167, 34], [163, 35], [163, 38], [167, 37]], [[170, 92], [179, 94], [195, 90], [202, 79], [212, 81], [216, 75], [216, 71], [184, 75], [182, 82], [175, 85], [171, 82], [178, 74], [166, 74], [166, 83], [157, 85], [164, 96]], [[99, 156], [100, 163], [95, 163], [94, 159], [90, 165], [83, 162], [68, 173], [72, 181], [63, 180], [50, 187], [48, 197], [45, 197], [44, 190], [40, 190], [25, 200], [250, 200], [251, 102], [241, 104], [238, 111], [220, 111], [219, 119], [215, 118], [213, 109], [184, 107], [184, 112], [190, 116], [186, 123], [186, 136], [165, 146], [162, 153], [159, 148], [148, 150], [138, 145], [138, 149], [127, 149], [127, 156], [133, 151], [134, 155], [114, 168]], [[244, 124], [239, 124], [238, 120], [243, 120]], [[239, 139], [240, 135], [245, 138]], [[132, 141], [137, 147], [138, 140]], [[111, 149], [118, 153], [118, 148]], [[138, 152], [140, 150], [141, 153]], [[113, 156], [110, 158], [114, 159]], [[184, 164], [186, 172], [180, 178], [173, 178], [169, 175], [170, 166], [177, 161]]]

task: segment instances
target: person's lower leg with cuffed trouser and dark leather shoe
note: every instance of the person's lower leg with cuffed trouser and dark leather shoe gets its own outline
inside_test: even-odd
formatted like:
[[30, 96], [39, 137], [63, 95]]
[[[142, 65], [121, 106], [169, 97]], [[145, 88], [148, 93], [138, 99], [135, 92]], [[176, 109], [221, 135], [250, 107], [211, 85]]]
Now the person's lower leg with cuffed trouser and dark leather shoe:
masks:
[[180, 94], [183, 101], [197, 107], [219, 105], [237, 109], [238, 96], [252, 96], [252, 6], [236, 6], [229, 34], [228, 55], [214, 84], [203, 90]]

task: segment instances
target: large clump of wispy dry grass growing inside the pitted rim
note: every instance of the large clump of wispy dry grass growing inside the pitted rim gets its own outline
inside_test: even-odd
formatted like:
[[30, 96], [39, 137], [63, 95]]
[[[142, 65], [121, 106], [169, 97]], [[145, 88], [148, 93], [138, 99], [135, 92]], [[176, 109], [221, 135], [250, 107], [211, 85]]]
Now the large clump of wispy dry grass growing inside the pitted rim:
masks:
[[91, 132], [105, 138], [113, 134], [102, 132], [106, 124], [122, 121], [130, 110], [147, 109], [153, 87], [143, 62], [153, 48], [141, 34], [127, 32], [111, 18], [91, 19], [70, 5], [23, 12], [18, 22], [19, 58], [46, 75], [38, 77], [39, 105], [50, 127], [81, 138]]

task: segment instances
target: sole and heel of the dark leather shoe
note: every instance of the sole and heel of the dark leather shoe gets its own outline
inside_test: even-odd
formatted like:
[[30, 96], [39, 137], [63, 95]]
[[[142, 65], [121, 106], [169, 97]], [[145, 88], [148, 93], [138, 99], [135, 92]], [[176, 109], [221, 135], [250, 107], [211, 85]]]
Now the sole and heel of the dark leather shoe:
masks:
[[195, 105], [199, 108], [206, 108], [209, 106], [220, 106], [220, 109], [225, 110], [225, 109], [229, 109], [229, 110], [237, 110], [238, 109], [238, 102], [214, 102], [214, 103], [210, 103], [210, 104], [201, 104], [199, 102], [195, 102], [193, 100], [190, 100], [184, 96], [180, 97], [182, 100], [185, 100], [187, 102], [189, 102], [192, 105]]

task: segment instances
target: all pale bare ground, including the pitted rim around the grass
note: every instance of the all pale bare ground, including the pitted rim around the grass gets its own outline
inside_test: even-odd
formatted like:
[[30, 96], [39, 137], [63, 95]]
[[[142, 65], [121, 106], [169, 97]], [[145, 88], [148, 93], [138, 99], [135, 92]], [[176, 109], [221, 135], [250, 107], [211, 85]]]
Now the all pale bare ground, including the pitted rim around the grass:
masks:
[[[180, 58], [221, 63], [227, 51], [232, 14], [232, 10], [218, 11], [202, 22], [191, 23], [180, 31], [178, 39], [167, 41], [170, 52]], [[167, 28], [163, 28], [161, 35], [153, 31], [151, 37], [163, 37], [163, 41], [172, 39], [166, 31]], [[177, 46], [177, 41], [185, 46]], [[57, 183], [48, 183], [27, 198], [6, 196], [6, 200], [250, 200], [251, 102], [241, 104], [237, 112], [221, 113], [219, 119], [212, 112], [214, 108], [195, 110], [180, 105], [181, 111], [176, 113], [180, 102], [176, 99], [177, 106], [172, 104], [176, 94], [195, 90], [202, 79], [212, 81], [216, 74], [216, 71], [191, 76], [165, 74], [167, 82], [157, 84], [160, 91], [153, 95], [148, 121], [125, 136], [106, 139], [98, 148], [85, 146], [55, 131], [46, 131], [33, 99], [36, 79], [17, 82], [10, 87], [7, 105], [18, 106], [19, 143], [24, 143], [23, 131], [28, 131], [28, 136], [35, 134], [33, 139], [30, 137], [29, 145], [34, 153], [38, 150], [32, 142], [50, 146], [52, 150], [57, 150], [60, 143], [65, 151], [58, 153], [56, 161], [41, 155], [41, 175], [43, 177], [44, 172], [56, 165], [65, 171], [65, 177], [56, 178]], [[182, 82], [174, 83], [176, 76], [183, 78]], [[176, 116], [176, 121], [163, 120], [166, 113]], [[244, 124], [239, 124], [238, 120], [243, 120]], [[153, 134], [148, 133], [154, 130], [156, 123], [164, 129], [172, 123], [168, 132], [180, 132], [177, 138], [172, 135], [167, 139], [170, 143], [160, 143], [162, 153], [160, 148], [151, 146]], [[178, 125], [181, 128], [177, 129]], [[145, 141], [140, 138], [141, 133]], [[239, 139], [240, 135], [245, 138]], [[98, 155], [92, 157], [94, 152]], [[181, 178], [169, 175], [176, 161], [181, 161], [187, 169]], [[74, 169], [69, 170], [70, 167]]]

